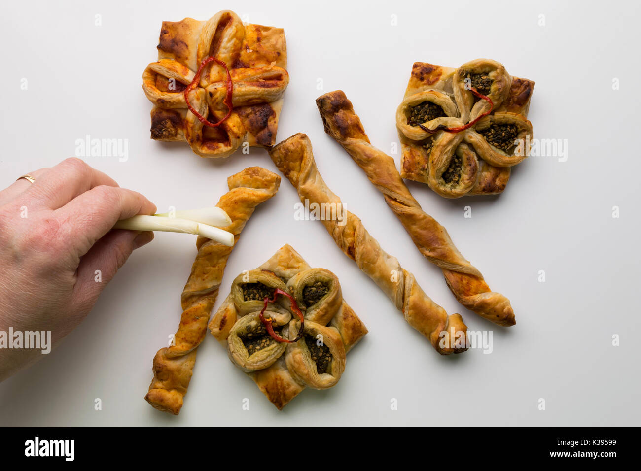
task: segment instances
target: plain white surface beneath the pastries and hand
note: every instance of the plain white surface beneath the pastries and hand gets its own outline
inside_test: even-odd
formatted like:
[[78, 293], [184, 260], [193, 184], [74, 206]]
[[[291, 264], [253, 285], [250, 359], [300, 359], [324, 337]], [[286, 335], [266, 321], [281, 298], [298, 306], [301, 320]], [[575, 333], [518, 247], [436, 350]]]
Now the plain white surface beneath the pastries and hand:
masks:
[[[290, 85], [278, 140], [303, 131], [320, 172], [432, 299], [470, 330], [491, 330], [493, 351], [439, 356], [392, 302], [335, 246], [320, 222], [294, 220], [296, 191], [254, 213], [233, 251], [219, 306], [244, 269], [291, 244], [340, 278], [369, 327], [340, 383], [304, 391], [278, 411], [209, 334], [185, 406], [174, 417], [143, 397], [151, 360], [176, 331], [194, 236], [158, 233], [106, 287], [88, 318], [35, 366], [0, 384], [0, 424], [10, 426], [612, 426], [638, 425], [640, 276], [637, 142], [638, 4], [601, 2], [10, 2], [0, 30], [0, 184], [75, 151], [74, 142], [128, 139], [129, 160], [86, 158], [160, 211], [215, 204], [226, 178], [251, 165], [276, 170], [262, 149], [208, 160], [187, 144], [149, 139], [140, 84], [156, 60], [162, 21], [205, 20], [231, 8], [285, 28]], [[96, 14], [102, 25], [95, 26]], [[390, 24], [397, 15], [397, 26]], [[540, 26], [545, 15], [545, 26]], [[408, 183], [424, 210], [492, 289], [512, 301], [517, 325], [467, 311], [437, 267], [420, 256], [362, 170], [323, 132], [314, 99], [342, 88], [372, 144], [397, 142], [394, 113], [412, 63], [450, 67], [487, 57], [537, 85], [535, 137], [567, 139], [567, 161], [531, 157], [498, 197], [445, 200]], [[21, 79], [28, 89], [21, 90]], [[613, 78], [620, 90], [613, 90]], [[317, 85], [322, 79], [322, 88]], [[397, 165], [399, 155], [394, 156]], [[472, 218], [463, 208], [472, 208]], [[620, 218], [613, 219], [613, 206]], [[545, 270], [545, 283], [538, 281]], [[47, 306], [42, 306], [43, 310]], [[613, 347], [612, 336], [620, 336]], [[94, 410], [94, 399], [103, 409]], [[251, 408], [242, 410], [249, 398]], [[390, 409], [392, 398], [398, 409]], [[545, 410], [538, 400], [545, 399]]]

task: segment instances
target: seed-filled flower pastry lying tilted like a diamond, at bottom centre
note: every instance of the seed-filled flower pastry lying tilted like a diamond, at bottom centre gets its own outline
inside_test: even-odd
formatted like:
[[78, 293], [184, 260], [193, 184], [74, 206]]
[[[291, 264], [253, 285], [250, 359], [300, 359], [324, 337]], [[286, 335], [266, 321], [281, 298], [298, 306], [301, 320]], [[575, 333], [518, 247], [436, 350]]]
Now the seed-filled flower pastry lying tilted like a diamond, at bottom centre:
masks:
[[306, 387], [335, 386], [345, 354], [367, 334], [337, 276], [312, 269], [290, 245], [238, 275], [209, 328], [278, 409]]

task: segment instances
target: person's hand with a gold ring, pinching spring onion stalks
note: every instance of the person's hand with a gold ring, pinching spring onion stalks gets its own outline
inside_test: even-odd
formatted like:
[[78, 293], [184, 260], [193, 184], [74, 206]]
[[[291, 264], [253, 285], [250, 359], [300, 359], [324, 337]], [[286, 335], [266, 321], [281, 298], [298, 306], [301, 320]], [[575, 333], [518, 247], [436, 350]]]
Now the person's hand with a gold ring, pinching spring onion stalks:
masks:
[[[77, 158], [30, 175], [35, 183], [19, 179], [0, 192], [0, 331], [51, 331], [55, 346], [131, 252], [153, 240], [113, 225], [156, 206]], [[0, 382], [41, 357], [0, 348]]]

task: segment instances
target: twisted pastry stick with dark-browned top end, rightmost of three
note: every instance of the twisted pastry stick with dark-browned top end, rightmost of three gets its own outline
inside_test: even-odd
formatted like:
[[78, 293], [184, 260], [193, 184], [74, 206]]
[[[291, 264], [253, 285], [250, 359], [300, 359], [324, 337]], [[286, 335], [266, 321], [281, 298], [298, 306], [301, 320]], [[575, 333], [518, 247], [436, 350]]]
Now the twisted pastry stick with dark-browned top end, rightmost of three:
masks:
[[470, 311], [499, 326], [513, 326], [514, 311], [501, 293], [490, 291], [483, 275], [454, 247], [445, 227], [420, 208], [403, 183], [394, 159], [373, 147], [342, 90], [316, 100], [325, 131], [332, 136], [385, 196], [387, 205], [408, 231], [419, 251], [443, 270], [447, 286]]

